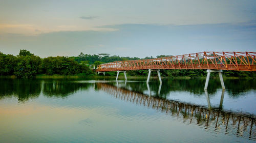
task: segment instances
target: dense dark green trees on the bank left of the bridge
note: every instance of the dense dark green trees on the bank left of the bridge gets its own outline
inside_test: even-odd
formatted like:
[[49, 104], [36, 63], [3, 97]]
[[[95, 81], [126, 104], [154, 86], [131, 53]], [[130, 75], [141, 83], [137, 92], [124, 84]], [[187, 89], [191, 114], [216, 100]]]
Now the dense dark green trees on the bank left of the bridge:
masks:
[[27, 50], [20, 50], [17, 56], [0, 52], [0, 75], [31, 78], [36, 74], [89, 75], [92, 71], [87, 64], [78, 63], [72, 57], [49, 56], [42, 59]]

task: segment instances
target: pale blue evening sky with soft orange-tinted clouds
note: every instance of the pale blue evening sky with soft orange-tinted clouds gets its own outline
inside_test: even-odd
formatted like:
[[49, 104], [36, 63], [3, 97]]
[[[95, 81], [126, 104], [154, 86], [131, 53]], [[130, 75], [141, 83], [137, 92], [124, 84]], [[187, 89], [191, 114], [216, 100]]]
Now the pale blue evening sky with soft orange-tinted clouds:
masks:
[[256, 1], [0, 0], [0, 51], [144, 58], [256, 51]]

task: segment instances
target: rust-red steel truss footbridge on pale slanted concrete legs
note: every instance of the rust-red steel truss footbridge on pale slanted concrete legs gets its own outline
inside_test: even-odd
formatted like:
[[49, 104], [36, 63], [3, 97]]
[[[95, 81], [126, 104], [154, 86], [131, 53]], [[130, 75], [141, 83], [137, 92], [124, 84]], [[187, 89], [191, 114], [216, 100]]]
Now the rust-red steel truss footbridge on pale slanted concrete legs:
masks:
[[127, 70], [148, 70], [147, 83], [150, 81], [152, 71], [157, 71], [159, 81], [162, 83], [160, 69], [163, 70], [207, 70], [204, 89], [207, 89], [211, 72], [218, 72], [222, 89], [225, 89], [222, 70], [256, 71], [256, 52], [198, 52], [183, 55], [168, 56], [147, 60], [116, 61], [101, 64], [97, 67], [98, 73], [117, 71], [116, 80], [120, 72]]

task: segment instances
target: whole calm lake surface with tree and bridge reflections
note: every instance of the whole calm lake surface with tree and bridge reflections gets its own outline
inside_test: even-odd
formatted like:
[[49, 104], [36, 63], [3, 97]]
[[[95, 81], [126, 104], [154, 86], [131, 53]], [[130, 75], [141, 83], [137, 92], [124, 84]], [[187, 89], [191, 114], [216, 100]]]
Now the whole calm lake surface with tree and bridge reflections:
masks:
[[0, 142], [255, 142], [256, 80], [0, 79]]

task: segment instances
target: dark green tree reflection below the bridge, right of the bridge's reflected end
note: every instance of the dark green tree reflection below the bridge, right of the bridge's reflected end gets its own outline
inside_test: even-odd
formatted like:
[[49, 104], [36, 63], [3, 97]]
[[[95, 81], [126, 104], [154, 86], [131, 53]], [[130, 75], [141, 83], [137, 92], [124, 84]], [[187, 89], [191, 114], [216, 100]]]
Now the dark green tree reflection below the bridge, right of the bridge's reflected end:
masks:
[[[151, 80], [149, 86], [146, 82], [127, 82], [126, 85], [119, 83], [119, 87], [132, 90], [143, 94], [144, 91], [150, 91], [151, 96], [158, 98], [166, 98], [170, 92], [186, 91], [194, 94], [195, 96], [204, 96], [204, 84], [205, 79], [164, 79], [162, 80], [161, 90], [159, 92], [160, 83], [158, 80]], [[224, 80], [227, 92], [231, 93], [231, 96], [237, 97], [241, 93], [248, 90], [256, 89], [256, 80], [240, 80], [240, 79], [227, 79]], [[116, 83], [109, 83], [115, 85]], [[150, 87], [150, 90], [148, 89]], [[219, 80], [210, 80], [208, 85], [208, 94], [215, 94], [218, 89], [221, 89]], [[150, 94], [150, 93], [149, 93]]]

